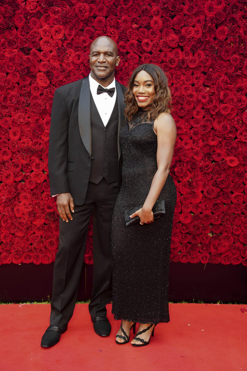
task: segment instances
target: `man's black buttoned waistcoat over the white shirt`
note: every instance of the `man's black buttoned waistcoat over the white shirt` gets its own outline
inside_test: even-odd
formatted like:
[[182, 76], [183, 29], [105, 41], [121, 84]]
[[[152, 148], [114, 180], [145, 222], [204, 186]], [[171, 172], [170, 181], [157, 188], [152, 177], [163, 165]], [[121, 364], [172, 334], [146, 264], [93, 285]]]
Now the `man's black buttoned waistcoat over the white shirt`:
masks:
[[101, 120], [92, 95], [90, 104], [93, 160], [91, 161], [89, 181], [98, 184], [101, 179], [105, 178], [107, 184], [110, 184], [117, 181], [118, 175], [117, 135], [119, 109], [117, 98], [106, 127]]

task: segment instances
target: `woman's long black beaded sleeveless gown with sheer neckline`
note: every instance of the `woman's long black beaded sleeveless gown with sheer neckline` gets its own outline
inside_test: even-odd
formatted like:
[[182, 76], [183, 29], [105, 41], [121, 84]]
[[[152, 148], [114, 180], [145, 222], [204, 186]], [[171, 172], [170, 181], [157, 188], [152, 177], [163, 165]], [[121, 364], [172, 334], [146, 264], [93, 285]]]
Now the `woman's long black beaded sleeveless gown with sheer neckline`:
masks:
[[151, 224], [125, 226], [124, 211], [142, 205], [157, 171], [157, 136], [147, 112], [121, 129], [122, 184], [113, 211], [113, 305], [115, 319], [143, 324], [169, 321], [171, 231], [177, 198], [170, 174], [158, 197], [166, 214]]

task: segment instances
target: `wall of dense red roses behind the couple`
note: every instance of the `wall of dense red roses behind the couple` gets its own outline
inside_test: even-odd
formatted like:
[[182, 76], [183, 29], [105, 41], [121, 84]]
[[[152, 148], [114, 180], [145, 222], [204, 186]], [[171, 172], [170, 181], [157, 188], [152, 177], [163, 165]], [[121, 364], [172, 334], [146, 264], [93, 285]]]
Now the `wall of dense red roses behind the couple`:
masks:
[[[171, 260], [247, 265], [245, 1], [43, 0], [0, 6], [0, 262], [50, 263], [58, 245], [47, 168], [54, 90], [89, 73], [100, 35], [117, 80], [166, 72], [177, 142]], [[92, 263], [90, 225], [86, 262]]]

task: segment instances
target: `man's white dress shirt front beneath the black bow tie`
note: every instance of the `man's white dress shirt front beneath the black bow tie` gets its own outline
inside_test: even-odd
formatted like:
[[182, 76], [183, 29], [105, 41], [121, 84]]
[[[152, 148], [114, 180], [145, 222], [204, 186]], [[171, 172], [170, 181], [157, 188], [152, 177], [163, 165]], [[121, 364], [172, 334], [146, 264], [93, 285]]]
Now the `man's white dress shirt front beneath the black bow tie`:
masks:
[[[113, 82], [110, 83], [110, 85], [106, 86], [107, 89], [115, 88], [113, 96], [110, 96], [107, 92], [97, 94], [97, 88], [99, 85], [100, 84], [89, 75], [90, 91], [93, 96], [93, 100], [97, 107], [97, 110], [99, 111], [101, 120], [103, 121], [104, 126], [106, 126], [107, 122], [111, 117], [111, 113], [113, 111], [114, 104], [117, 98], [116, 81], [114, 78]], [[102, 88], [104, 88], [104, 86], [102, 86]]]

